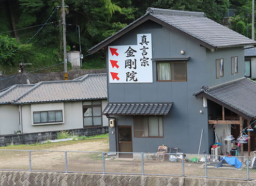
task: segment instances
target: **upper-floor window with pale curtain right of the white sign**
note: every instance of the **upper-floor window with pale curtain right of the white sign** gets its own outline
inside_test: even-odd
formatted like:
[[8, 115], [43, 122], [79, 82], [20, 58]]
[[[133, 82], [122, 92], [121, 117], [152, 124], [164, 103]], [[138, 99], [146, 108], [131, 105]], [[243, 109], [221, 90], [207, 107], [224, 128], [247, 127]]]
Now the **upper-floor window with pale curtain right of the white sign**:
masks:
[[186, 61], [164, 61], [157, 63], [157, 81], [187, 81]]

